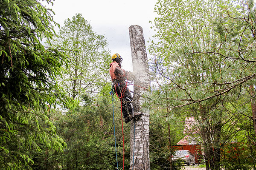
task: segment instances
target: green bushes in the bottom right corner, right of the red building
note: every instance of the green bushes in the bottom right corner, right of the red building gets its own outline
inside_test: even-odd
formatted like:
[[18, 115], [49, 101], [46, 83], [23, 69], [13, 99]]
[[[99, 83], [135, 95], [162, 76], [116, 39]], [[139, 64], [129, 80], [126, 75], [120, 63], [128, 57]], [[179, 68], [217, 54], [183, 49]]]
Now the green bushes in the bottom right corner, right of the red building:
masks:
[[221, 149], [221, 164], [228, 170], [249, 170], [255, 166], [255, 135], [248, 119], [251, 108], [247, 97], [241, 96], [239, 101], [231, 103], [230, 122], [223, 127], [224, 132], [230, 131], [228, 142]]

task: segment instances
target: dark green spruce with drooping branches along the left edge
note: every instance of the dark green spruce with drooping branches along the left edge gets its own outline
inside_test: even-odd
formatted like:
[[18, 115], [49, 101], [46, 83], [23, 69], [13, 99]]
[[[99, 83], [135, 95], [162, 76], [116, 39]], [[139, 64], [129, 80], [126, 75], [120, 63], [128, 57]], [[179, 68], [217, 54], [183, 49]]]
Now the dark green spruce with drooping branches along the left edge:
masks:
[[0, 169], [30, 169], [32, 151], [66, 146], [47, 117], [64, 101], [56, 77], [66, 63], [41, 44], [54, 35], [51, 14], [38, 0], [0, 3]]

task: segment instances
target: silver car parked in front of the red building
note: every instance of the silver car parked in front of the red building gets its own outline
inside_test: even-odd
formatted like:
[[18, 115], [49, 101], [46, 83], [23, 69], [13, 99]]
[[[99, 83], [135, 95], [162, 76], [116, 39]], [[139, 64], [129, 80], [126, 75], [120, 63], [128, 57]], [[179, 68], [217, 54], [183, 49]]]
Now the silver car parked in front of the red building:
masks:
[[180, 159], [187, 165], [195, 165], [195, 156], [189, 150], [175, 150], [172, 155], [172, 160]]

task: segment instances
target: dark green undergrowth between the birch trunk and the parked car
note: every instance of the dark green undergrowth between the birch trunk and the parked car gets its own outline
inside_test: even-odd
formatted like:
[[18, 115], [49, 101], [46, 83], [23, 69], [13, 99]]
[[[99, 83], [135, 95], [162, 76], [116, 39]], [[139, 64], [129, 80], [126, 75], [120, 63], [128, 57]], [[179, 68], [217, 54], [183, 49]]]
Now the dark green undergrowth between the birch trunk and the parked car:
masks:
[[[183, 116], [172, 115], [166, 119], [159, 116], [165, 115], [166, 110], [158, 110], [150, 116], [150, 166], [154, 170], [169, 170], [170, 157], [174, 152], [177, 142], [184, 137]], [[170, 131], [169, 131], [170, 130]], [[180, 169], [181, 162], [172, 161], [172, 168]]]

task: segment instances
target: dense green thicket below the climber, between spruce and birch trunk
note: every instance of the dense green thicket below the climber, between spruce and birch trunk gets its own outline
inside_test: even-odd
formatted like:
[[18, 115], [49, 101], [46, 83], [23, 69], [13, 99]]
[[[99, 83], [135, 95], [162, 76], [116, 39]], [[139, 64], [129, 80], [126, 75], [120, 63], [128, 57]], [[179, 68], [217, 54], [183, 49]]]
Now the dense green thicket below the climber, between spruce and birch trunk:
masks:
[[[50, 117], [59, 135], [67, 143], [63, 153], [48, 151], [34, 153], [34, 170], [112, 170], [116, 169], [111, 96], [88, 97], [86, 105]], [[123, 144], [119, 102], [114, 105], [116, 145], [119, 169], [122, 169]], [[130, 130], [124, 125], [125, 169], [130, 163]], [[47, 165], [47, 166], [46, 166]]]

